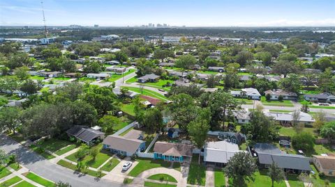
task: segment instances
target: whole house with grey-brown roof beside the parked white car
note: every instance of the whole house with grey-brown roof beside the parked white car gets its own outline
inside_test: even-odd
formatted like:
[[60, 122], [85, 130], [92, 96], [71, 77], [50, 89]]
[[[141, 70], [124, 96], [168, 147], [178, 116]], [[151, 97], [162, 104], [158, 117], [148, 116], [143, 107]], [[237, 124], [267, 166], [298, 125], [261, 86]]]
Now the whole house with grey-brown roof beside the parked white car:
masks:
[[137, 152], [143, 152], [145, 141], [142, 140], [142, 131], [131, 130], [125, 136], [110, 135], [103, 140], [103, 149], [115, 154], [133, 156]]

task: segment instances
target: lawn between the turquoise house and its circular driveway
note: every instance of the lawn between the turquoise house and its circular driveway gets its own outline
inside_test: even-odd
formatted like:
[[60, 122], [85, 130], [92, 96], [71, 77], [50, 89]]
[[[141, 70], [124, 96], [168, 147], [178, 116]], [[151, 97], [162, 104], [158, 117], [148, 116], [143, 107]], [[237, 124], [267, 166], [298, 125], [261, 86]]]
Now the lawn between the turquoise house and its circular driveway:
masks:
[[145, 170], [149, 170], [152, 168], [168, 168], [170, 166], [170, 163], [165, 162], [163, 160], [153, 160], [151, 158], [138, 158], [136, 159], [138, 162], [137, 165], [135, 165], [135, 168], [129, 172], [129, 176], [131, 177], [137, 177], [138, 174], [141, 172], [144, 172]]

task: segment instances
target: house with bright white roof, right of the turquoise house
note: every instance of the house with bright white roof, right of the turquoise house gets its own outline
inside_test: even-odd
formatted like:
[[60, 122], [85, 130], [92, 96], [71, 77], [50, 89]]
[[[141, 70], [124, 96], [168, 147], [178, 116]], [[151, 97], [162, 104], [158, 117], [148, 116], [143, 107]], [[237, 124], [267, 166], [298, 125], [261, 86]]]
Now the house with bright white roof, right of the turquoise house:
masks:
[[204, 145], [204, 162], [224, 166], [239, 151], [239, 146], [228, 141], [209, 142]]

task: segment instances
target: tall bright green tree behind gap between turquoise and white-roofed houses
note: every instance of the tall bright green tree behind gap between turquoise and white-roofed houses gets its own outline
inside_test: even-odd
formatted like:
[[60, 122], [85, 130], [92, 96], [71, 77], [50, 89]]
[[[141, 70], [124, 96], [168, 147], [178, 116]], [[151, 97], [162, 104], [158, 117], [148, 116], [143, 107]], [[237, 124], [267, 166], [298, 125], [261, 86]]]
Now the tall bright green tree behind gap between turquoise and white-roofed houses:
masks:
[[[191, 136], [191, 140], [198, 149], [202, 149], [204, 142], [207, 139], [210, 117], [211, 112], [209, 111], [209, 108], [200, 109], [198, 117], [188, 124], [188, 134]], [[201, 156], [199, 156], [199, 164], [200, 157]]]

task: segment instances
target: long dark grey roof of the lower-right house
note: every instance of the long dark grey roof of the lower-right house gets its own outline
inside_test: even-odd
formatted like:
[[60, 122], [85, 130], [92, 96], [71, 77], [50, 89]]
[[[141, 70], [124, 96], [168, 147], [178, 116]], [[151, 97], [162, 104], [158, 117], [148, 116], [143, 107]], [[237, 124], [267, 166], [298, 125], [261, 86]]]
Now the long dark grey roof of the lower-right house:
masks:
[[258, 159], [261, 164], [276, 163], [279, 168], [311, 171], [308, 158], [299, 154], [258, 154]]

